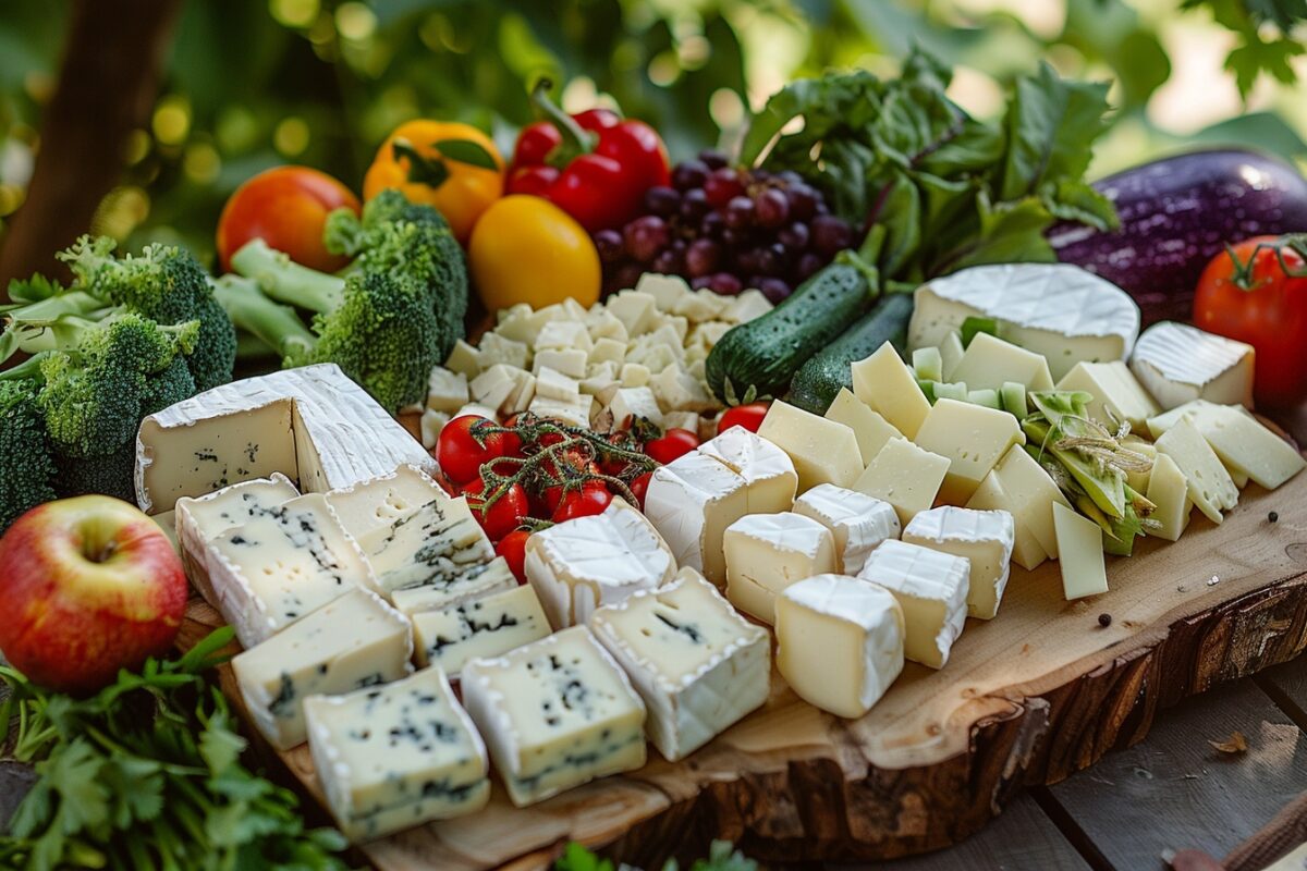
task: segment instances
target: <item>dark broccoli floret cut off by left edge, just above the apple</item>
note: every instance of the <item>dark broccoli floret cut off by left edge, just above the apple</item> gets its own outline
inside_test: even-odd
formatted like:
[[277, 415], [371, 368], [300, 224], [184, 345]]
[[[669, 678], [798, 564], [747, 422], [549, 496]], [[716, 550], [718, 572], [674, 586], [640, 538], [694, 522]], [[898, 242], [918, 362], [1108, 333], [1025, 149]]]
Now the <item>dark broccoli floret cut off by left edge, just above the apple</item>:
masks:
[[29, 508], [58, 495], [55, 461], [37, 404], [41, 381], [14, 372], [0, 376], [0, 533]]

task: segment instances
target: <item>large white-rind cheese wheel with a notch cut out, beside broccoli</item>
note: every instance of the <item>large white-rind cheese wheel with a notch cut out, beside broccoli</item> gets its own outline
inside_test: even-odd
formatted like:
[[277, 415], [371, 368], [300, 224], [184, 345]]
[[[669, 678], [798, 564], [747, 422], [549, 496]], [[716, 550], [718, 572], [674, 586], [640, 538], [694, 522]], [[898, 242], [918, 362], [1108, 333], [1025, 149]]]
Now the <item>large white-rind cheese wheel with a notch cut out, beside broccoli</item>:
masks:
[[136, 436], [136, 501], [146, 513], [280, 471], [323, 492], [435, 461], [335, 363], [233, 381], [170, 405]]

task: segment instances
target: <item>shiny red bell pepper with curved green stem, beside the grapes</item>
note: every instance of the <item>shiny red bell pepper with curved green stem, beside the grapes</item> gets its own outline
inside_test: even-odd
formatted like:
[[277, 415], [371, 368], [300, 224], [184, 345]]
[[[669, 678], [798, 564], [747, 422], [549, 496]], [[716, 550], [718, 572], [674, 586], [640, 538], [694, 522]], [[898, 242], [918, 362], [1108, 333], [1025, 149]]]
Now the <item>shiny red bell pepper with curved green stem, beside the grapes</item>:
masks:
[[542, 81], [532, 94], [545, 120], [518, 135], [507, 193], [544, 197], [591, 232], [621, 227], [644, 192], [670, 178], [663, 140], [644, 121], [606, 108], [566, 115], [548, 90]]

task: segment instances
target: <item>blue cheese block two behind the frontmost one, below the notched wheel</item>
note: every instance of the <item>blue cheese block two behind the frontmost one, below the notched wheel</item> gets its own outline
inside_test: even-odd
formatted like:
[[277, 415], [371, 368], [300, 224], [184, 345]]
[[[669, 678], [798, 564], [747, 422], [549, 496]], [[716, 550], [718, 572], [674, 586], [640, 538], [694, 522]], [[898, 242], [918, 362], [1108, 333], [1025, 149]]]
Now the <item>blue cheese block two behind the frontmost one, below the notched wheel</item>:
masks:
[[297, 496], [208, 542], [214, 601], [251, 648], [358, 586], [371, 586], [363, 554], [322, 494]]

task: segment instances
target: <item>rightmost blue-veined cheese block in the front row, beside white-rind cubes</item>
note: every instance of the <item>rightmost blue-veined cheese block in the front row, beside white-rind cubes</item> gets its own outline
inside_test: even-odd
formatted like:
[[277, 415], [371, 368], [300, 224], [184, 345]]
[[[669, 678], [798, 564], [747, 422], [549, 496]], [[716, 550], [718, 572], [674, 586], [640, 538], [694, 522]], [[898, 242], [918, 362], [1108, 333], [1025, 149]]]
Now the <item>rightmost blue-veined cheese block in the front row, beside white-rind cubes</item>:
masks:
[[668, 761], [685, 759], [767, 700], [771, 637], [693, 568], [599, 609], [589, 628], [635, 684], [650, 740]]

